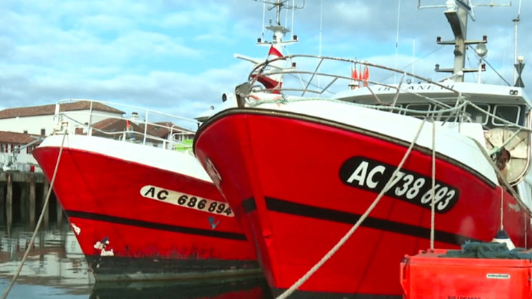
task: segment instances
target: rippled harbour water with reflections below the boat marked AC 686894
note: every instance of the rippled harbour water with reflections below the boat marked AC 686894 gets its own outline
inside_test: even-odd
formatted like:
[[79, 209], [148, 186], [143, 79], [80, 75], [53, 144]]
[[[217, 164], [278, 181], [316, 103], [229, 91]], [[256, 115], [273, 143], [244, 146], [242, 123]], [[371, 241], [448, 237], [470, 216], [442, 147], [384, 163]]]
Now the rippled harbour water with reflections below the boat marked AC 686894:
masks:
[[[22, 227], [11, 234], [0, 227], [0, 290], [7, 287], [33, 232]], [[68, 224], [42, 230], [8, 298], [271, 298], [260, 276], [190, 282], [96, 283]]]

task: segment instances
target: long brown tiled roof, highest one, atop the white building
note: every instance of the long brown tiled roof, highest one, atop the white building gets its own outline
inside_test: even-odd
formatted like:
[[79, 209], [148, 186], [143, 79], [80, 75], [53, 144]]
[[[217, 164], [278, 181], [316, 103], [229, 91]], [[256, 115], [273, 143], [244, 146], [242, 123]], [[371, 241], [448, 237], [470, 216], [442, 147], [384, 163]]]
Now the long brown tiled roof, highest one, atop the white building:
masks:
[[[89, 110], [91, 102], [89, 101], [76, 101], [67, 102], [60, 105], [60, 112], [64, 111], [77, 111], [77, 110]], [[113, 112], [116, 114], [124, 114], [124, 111], [118, 110], [111, 106], [107, 106], [100, 102], [92, 102], [92, 109], [97, 111]], [[16, 117], [28, 117], [28, 116], [46, 116], [55, 114], [55, 104], [33, 106], [33, 107], [18, 107], [3, 109], [0, 111], [0, 119], [2, 118], [16, 118]]]

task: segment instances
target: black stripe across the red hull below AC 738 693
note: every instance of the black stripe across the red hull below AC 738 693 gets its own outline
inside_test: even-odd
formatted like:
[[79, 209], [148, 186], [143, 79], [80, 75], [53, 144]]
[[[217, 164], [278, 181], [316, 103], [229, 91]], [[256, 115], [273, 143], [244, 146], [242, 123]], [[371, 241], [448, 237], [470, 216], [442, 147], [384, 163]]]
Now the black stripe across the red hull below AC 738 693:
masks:
[[[339, 210], [331, 210], [327, 208], [318, 208], [315, 206], [308, 206], [302, 203], [293, 203], [291, 201], [285, 201], [281, 199], [274, 199], [272, 197], [265, 197], [266, 207], [272, 212], [282, 212], [284, 214], [309, 217], [313, 219], [335, 221], [344, 224], [354, 225], [362, 215], [353, 214], [350, 212], [342, 212]], [[253, 206], [255, 201], [253, 198], [242, 201], [243, 206]], [[256, 210], [256, 206], [253, 210]], [[246, 210], [251, 212], [252, 210]], [[375, 217], [367, 217], [360, 226], [366, 228], [375, 228], [378, 230], [385, 230], [391, 233], [400, 233], [402, 235], [409, 235], [412, 237], [420, 237], [424, 239], [430, 238], [430, 228], [424, 228], [421, 226], [415, 226], [411, 224], [404, 224], [398, 221], [390, 221], [386, 219], [380, 219]], [[466, 240], [472, 242], [481, 242], [480, 240], [473, 239], [471, 237], [465, 237], [454, 233], [447, 233], [442, 230], [434, 231], [434, 240], [438, 242], [444, 242], [447, 244], [461, 245]]]

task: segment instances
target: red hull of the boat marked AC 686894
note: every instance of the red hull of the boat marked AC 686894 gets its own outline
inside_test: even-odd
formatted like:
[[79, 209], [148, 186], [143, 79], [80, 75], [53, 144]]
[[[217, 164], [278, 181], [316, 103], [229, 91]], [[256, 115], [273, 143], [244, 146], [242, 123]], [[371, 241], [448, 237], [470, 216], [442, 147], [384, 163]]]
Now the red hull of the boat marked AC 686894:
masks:
[[[59, 147], [33, 152], [48, 181], [58, 154]], [[236, 217], [165, 202], [173, 190], [225, 202], [207, 181], [64, 147], [53, 190], [97, 280], [195, 278], [259, 269]]]

